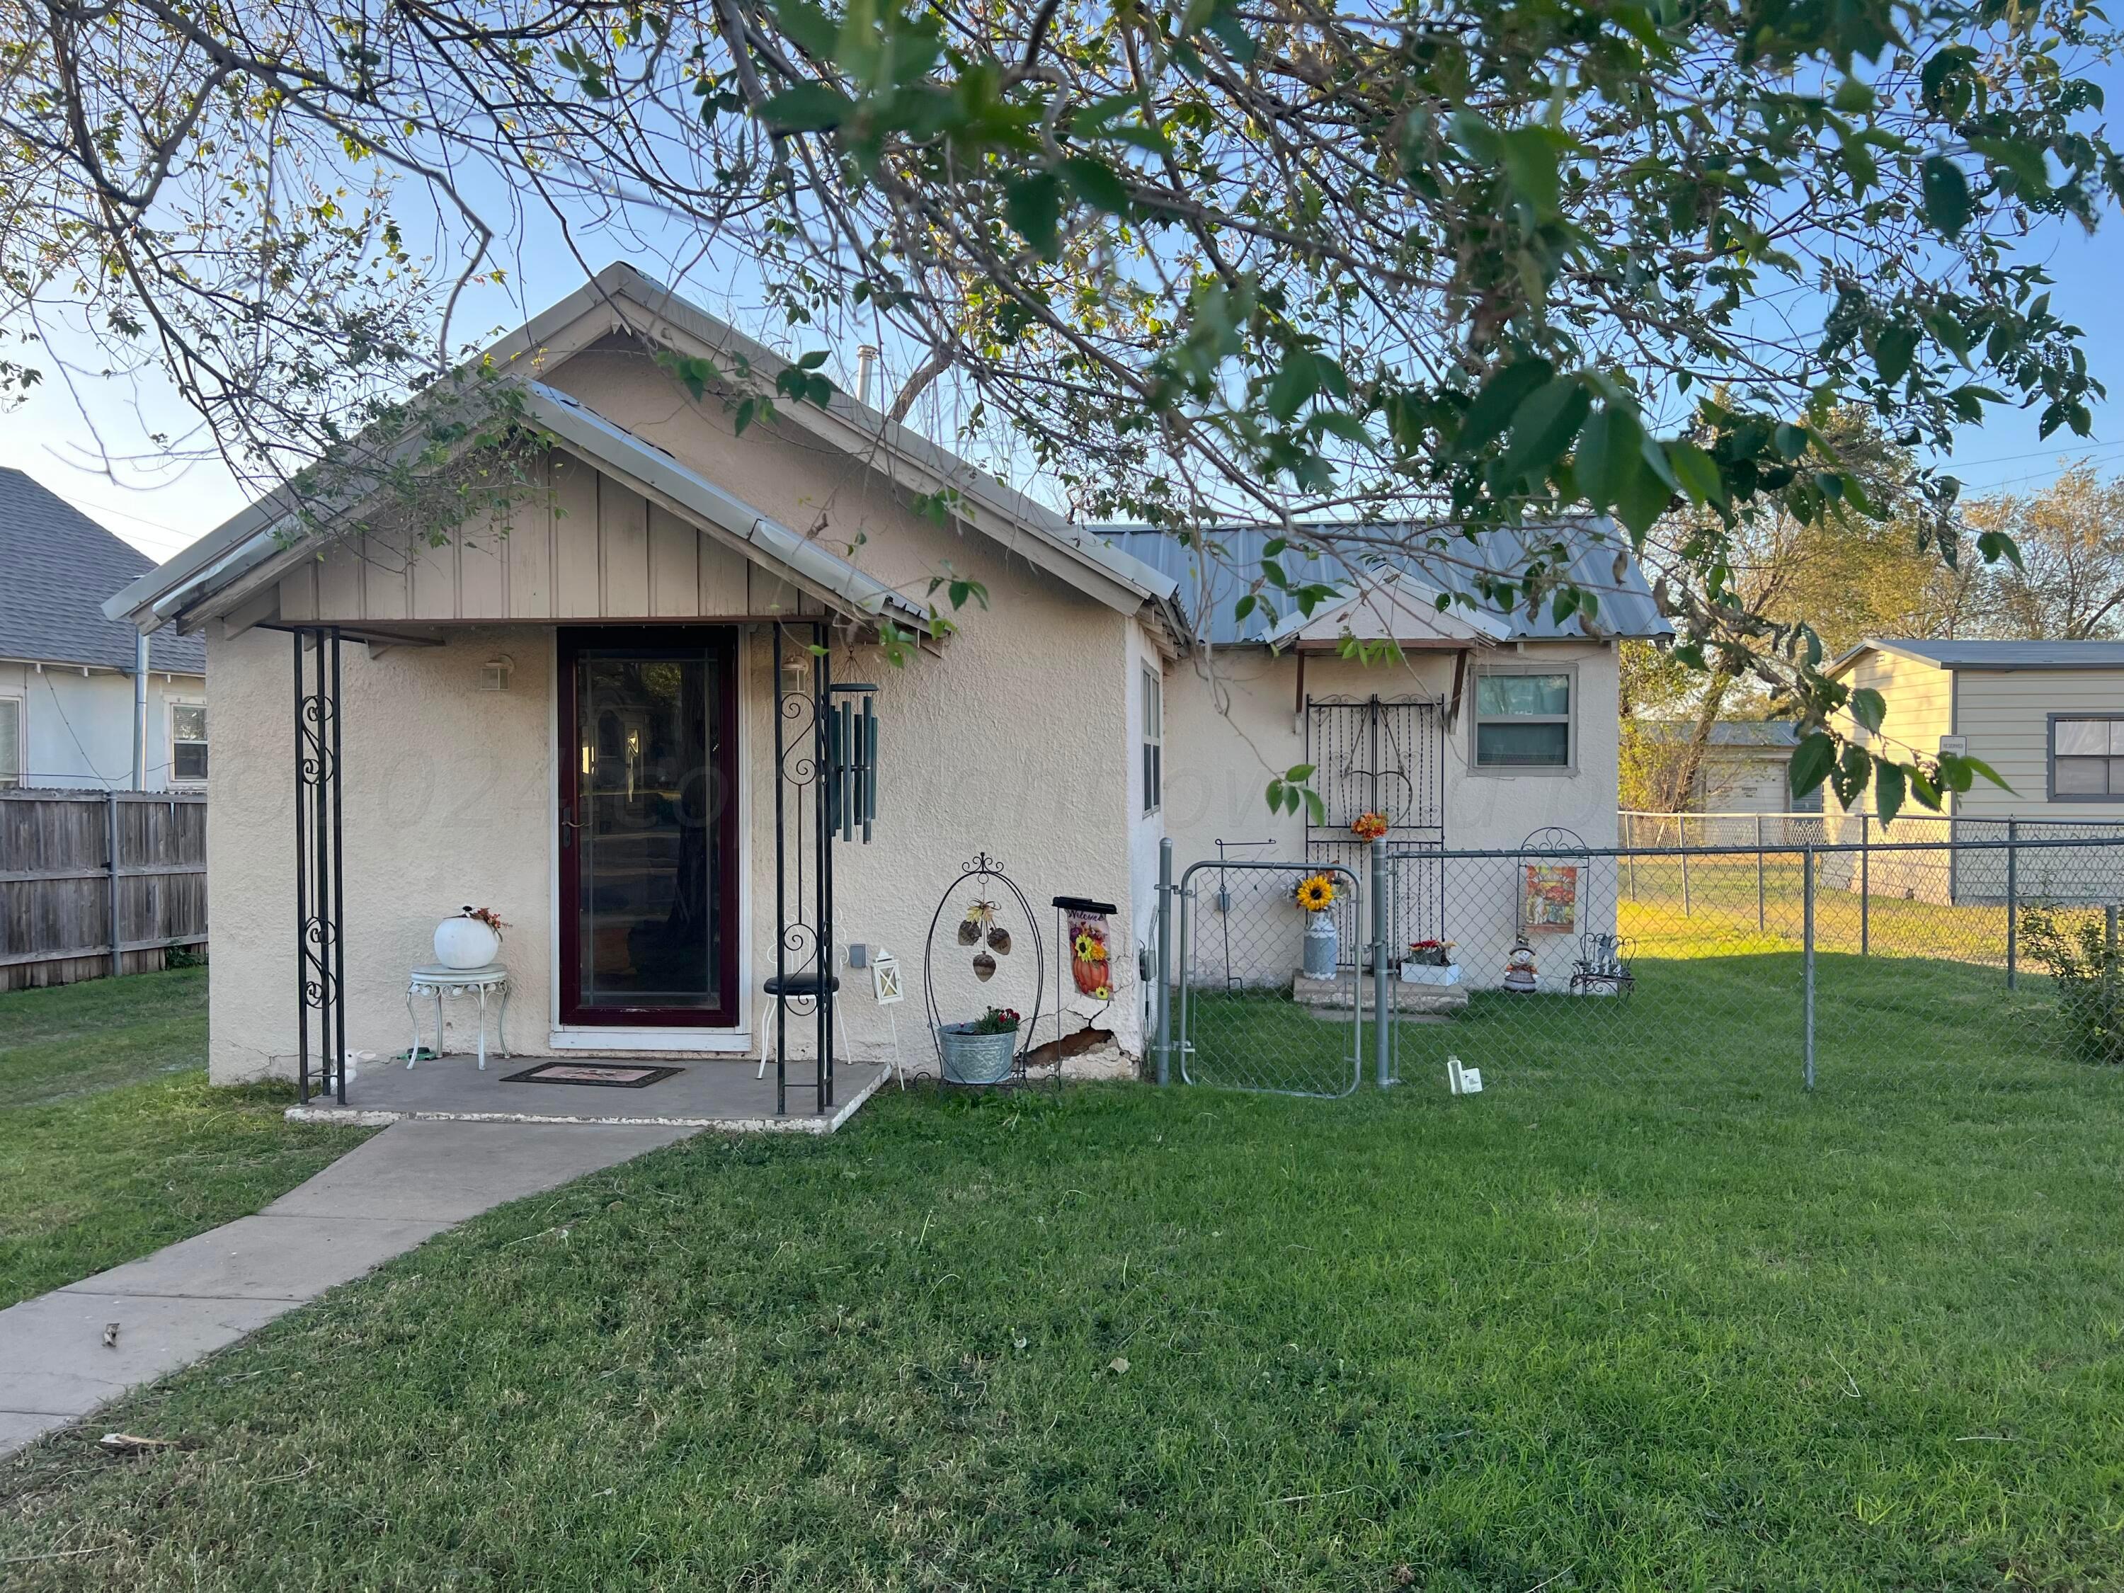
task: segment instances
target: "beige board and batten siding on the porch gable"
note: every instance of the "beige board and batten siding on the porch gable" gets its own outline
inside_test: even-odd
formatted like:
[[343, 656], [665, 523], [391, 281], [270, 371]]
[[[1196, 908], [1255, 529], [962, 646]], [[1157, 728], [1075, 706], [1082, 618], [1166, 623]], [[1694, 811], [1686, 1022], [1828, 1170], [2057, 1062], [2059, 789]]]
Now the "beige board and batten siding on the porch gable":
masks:
[[816, 603], [726, 542], [565, 452], [544, 491], [446, 542], [370, 529], [280, 580], [297, 624], [656, 620], [811, 614]]

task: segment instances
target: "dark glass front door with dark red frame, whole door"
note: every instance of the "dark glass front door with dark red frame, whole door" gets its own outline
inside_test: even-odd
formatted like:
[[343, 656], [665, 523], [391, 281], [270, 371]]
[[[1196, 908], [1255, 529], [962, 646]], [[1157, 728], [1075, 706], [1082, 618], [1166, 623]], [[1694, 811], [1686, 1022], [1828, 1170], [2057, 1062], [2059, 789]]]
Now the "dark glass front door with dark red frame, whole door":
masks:
[[737, 1024], [737, 633], [561, 631], [561, 1022]]

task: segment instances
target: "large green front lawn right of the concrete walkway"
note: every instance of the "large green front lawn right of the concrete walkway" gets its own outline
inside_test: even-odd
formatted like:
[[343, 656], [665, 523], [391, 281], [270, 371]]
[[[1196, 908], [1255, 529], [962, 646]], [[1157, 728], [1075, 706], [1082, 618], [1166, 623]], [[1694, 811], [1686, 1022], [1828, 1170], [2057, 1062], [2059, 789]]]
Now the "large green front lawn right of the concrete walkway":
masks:
[[[1676, 1064], [1746, 1056], [1761, 979], [1657, 973], [1640, 994], [1697, 1013]], [[1875, 1049], [1986, 1045], [1950, 986], [1884, 1005]], [[1933, 1087], [1655, 1092], [1580, 1066], [1623, 1045], [1568, 1028], [1621, 1022], [1595, 1005], [1487, 1058], [1480, 1098], [888, 1092], [826, 1141], [688, 1141], [108, 1419], [195, 1449], [38, 1446], [0, 1472], [0, 1561], [21, 1589], [2124, 1582], [2124, 1077], [1999, 1041]]]

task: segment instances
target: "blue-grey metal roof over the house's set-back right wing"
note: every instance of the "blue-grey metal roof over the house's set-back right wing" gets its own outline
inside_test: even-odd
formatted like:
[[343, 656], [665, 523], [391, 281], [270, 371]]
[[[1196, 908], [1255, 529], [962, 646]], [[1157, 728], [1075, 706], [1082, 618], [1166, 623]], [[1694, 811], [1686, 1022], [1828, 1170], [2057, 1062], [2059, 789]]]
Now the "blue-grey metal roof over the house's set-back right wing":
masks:
[[[1489, 576], [1512, 578], [1525, 569], [1529, 550], [1561, 542], [1570, 556], [1572, 578], [1599, 597], [1599, 631], [1604, 637], [1665, 637], [1674, 627], [1661, 616], [1652, 601], [1652, 588], [1644, 582], [1629, 550], [1629, 539], [1608, 520], [1561, 520], [1523, 529], [1483, 531], [1476, 537], [1444, 537], [1444, 546], [1421, 552], [1406, 552], [1410, 527], [1400, 525], [1340, 525], [1321, 527], [1321, 535], [1336, 535], [1344, 546], [1355, 539], [1370, 539], [1381, 548], [1370, 567], [1355, 569], [1332, 552], [1304, 550], [1306, 527], [1281, 529], [1264, 525], [1215, 527], [1198, 533], [1194, 542], [1181, 542], [1172, 531], [1147, 525], [1100, 525], [1094, 535], [1107, 537], [1117, 548], [1126, 548], [1136, 559], [1158, 565], [1179, 582], [1179, 603], [1213, 646], [1283, 641], [1289, 629], [1289, 614], [1270, 614], [1266, 605], [1255, 607], [1245, 618], [1234, 616], [1234, 605], [1262, 571], [1266, 548], [1272, 539], [1291, 546], [1277, 554], [1277, 565], [1291, 584], [1325, 582], [1336, 586], [1347, 603], [1368, 590], [1415, 582], [1417, 588], [1453, 595], [1449, 614], [1466, 624], [1497, 629], [1500, 641], [1572, 641], [1585, 639], [1578, 618], [1557, 624], [1544, 603], [1527, 614], [1514, 607], [1500, 614], [1476, 590], [1478, 580]], [[1621, 576], [1616, 573], [1621, 559]], [[1470, 607], [1472, 603], [1472, 607]], [[1277, 610], [1289, 610], [1279, 603]], [[1321, 610], [1315, 610], [1315, 618]], [[1361, 614], [1359, 614], [1361, 618]], [[1376, 639], [1376, 637], [1366, 637]]]

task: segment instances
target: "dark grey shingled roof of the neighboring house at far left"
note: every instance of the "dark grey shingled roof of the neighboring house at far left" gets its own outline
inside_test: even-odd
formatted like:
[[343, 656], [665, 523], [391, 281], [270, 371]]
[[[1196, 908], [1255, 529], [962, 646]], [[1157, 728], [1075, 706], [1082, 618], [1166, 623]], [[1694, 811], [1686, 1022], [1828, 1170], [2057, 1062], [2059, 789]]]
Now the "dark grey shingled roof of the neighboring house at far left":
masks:
[[[0, 658], [132, 673], [134, 629], [102, 603], [153, 567], [57, 493], [0, 469]], [[164, 637], [149, 667], [204, 673], [206, 644]]]

